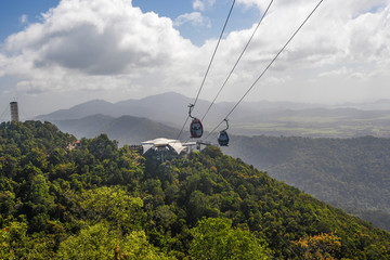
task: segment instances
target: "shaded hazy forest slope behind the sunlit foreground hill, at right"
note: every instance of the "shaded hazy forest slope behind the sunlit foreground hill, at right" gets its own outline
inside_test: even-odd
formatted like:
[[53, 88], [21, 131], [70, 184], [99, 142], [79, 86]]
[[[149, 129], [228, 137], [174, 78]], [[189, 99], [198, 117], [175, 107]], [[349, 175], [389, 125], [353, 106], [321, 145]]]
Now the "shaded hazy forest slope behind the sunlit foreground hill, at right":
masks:
[[390, 230], [390, 139], [234, 136], [225, 152]]

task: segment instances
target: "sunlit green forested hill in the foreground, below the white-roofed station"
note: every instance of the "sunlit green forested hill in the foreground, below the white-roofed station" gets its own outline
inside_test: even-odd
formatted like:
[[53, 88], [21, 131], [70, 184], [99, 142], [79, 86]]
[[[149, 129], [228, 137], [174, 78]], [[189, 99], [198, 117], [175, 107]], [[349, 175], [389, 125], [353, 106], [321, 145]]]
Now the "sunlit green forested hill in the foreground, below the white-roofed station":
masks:
[[214, 146], [170, 167], [0, 125], [0, 259], [390, 259], [390, 234]]

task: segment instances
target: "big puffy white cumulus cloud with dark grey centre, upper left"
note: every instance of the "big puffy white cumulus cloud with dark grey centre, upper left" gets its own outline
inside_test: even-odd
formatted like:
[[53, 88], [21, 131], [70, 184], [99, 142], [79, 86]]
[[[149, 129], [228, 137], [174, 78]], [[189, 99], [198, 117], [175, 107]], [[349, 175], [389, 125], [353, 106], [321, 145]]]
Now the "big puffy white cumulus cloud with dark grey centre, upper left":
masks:
[[41, 24], [6, 40], [6, 50], [29, 52], [36, 68], [62, 66], [91, 75], [156, 67], [188, 44], [169, 18], [143, 14], [126, 0], [64, 0]]

